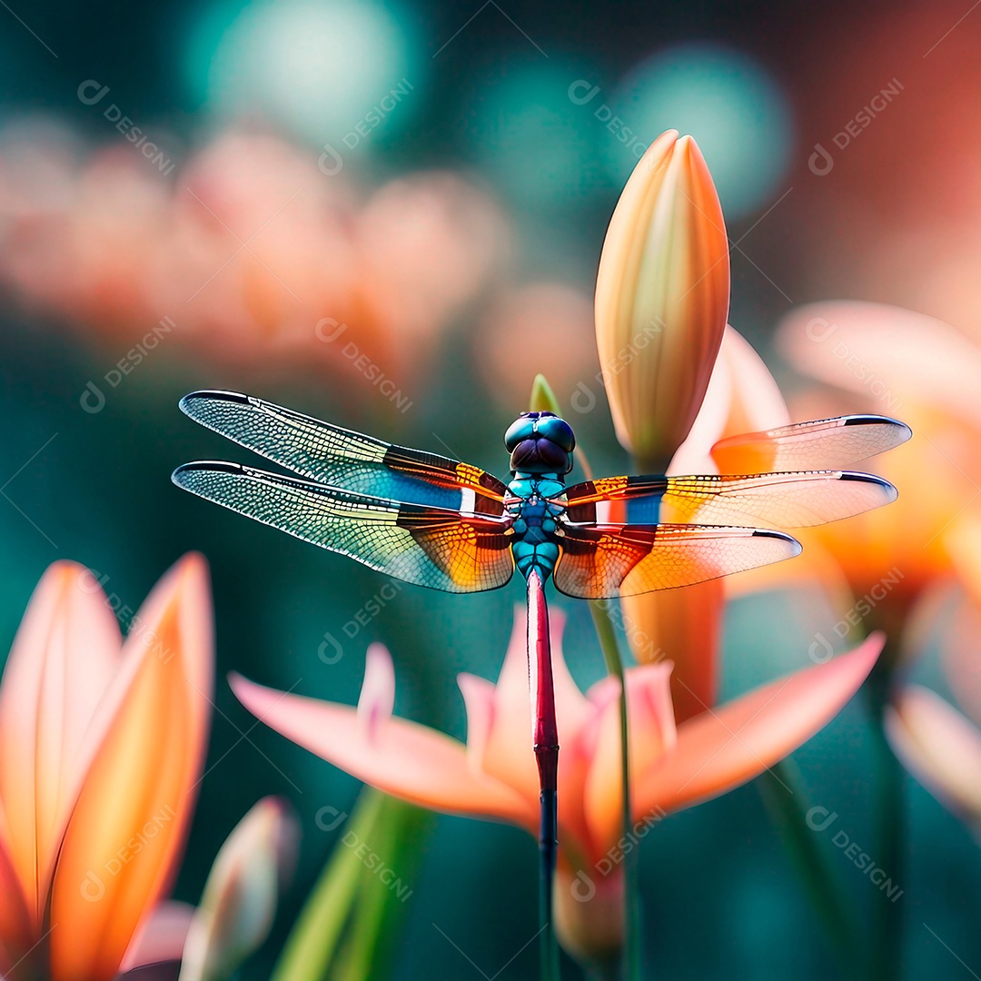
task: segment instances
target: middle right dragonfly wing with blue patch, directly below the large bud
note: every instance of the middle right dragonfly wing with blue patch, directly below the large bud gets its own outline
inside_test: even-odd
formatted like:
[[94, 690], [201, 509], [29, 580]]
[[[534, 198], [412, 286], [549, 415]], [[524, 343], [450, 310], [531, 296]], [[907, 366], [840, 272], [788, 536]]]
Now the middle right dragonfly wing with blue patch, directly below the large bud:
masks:
[[831, 470], [694, 477], [607, 477], [566, 490], [566, 518], [583, 524], [701, 524], [805, 528], [896, 500], [888, 481]]

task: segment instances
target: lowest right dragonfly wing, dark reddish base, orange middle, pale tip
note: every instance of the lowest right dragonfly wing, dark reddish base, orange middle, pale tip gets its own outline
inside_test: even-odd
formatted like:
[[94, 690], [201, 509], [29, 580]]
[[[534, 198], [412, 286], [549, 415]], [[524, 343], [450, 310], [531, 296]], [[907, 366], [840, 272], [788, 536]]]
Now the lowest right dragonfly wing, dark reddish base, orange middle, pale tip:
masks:
[[555, 588], [603, 599], [691, 586], [800, 554], [781, 532], [703, 525], [564, 526]]

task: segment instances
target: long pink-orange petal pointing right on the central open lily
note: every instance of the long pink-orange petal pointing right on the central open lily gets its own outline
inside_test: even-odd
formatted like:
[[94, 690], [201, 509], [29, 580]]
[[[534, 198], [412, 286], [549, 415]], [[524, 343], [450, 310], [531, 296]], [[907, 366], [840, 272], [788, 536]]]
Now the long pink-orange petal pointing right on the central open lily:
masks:
[[678, 744], [638, 775], [634, 813], [676, 810], [739, 787], [783, 759], [838, 714], [882, 650], [873, 634], [826, 664], [771, 682], [678, 727]]

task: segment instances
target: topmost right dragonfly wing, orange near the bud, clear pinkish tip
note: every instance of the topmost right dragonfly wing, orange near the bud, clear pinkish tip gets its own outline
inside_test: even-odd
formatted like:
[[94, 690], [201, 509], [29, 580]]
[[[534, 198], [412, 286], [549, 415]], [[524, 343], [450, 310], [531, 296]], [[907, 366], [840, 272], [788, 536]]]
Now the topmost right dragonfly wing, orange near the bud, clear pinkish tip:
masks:
[[905, 423], [888, 416], [838, 416], [720, 439], [712, 447], [712, 458], [724, 474], [840, 470], [911, 436]]

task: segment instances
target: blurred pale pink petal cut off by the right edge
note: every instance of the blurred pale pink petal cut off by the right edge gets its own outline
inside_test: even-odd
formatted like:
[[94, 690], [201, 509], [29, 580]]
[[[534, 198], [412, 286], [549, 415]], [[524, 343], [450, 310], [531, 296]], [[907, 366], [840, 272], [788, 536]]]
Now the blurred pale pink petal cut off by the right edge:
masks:
[[886, 735], [906, 769], [938, 800], [981, 825], [981, 732], [942, 697], [907, 685], [886, 714]]

